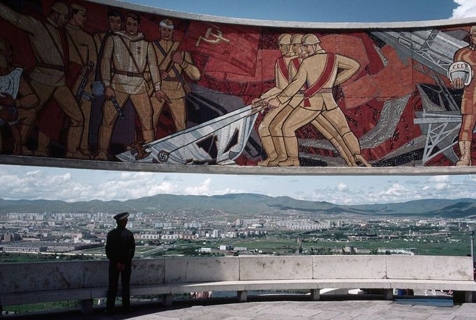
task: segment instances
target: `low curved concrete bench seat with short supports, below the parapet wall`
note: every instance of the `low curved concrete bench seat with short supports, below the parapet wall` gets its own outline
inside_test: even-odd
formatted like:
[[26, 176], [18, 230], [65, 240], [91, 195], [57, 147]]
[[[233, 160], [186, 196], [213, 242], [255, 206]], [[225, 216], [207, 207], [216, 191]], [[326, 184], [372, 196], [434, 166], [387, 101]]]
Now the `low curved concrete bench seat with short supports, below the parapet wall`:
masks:
[[[147, 294], [170, 295], [186, 294], [197, 291], [237, 291], [239, 297], [246, 296], [250, 290], [311, 290], [311, 298], [319, 299], [320, 289], [385, 289], [386, 298], [392, 289], [437, 289], [453, 291], [476, 291], [474, 281], [452, 280], [405, 280], [405, 279], [325, 279], [325, 280], [244, 280], [244, 281], [218, 281], [218, 282], [195, 282], [158, 285], [131, 286], [132, 296]], [[118, 296], [121, 290], [118, 291]], [[91, 298], [105, 298], [107, 287], [84, 288], [72, 290], [45, 290], [31, 291], [15, 294], [1, 294], [0, 305], [20, 305], [24, 303], [41, 303], [61, 300], [87, 300]], [[245, 298], [246, 300], [246, 298]]]

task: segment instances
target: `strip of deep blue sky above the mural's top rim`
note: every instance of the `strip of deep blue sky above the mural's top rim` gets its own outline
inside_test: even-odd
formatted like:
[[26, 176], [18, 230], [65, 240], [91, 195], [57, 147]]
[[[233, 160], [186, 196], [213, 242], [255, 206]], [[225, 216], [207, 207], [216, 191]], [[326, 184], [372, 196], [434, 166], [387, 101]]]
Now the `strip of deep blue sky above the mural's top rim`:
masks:
[[[474, 0], [127, 0], [189, 13], [302, 22], [397, 22], [452, 17]], [[464, 8], [464, 7], [463, 7]]]

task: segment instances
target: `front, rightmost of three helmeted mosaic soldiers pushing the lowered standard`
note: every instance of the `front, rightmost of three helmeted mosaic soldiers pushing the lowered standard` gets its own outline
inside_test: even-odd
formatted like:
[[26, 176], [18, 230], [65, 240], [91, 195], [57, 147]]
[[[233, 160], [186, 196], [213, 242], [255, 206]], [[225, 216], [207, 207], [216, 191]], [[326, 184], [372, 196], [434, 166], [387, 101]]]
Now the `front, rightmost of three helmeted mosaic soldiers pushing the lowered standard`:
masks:
[[[312, 33], [302, 38], [302, 45], [308, 57], [302, 61], [294, 79], [274, 99], [269, 101], [270, 107], [287, 105], [304, 87], [302, 103], [292, 110], [283, 122], [283, 136], [288, 151], [288, 159], [279, 162], [280, 166], [299, 167], [299, 149], [295, 130], [311, 123], [322, 112], [325, 119], [332, 123], [346, 144], [359, 146], [357, 137], [350, 130], [342, 110], [337, 106], [332, 87], [350, 79], [359, 70], [359, 62], [342, 56], [327, 53], [320, 46], [320, 40]], [[306, 86], [305, 86], [306, 85]], [[348, 147], [350, 150], [356, 147]], [[360, 147], [358, 147], [360, 151]], [[360, 153], [353, 155], [357, 165], [368, 165]]]

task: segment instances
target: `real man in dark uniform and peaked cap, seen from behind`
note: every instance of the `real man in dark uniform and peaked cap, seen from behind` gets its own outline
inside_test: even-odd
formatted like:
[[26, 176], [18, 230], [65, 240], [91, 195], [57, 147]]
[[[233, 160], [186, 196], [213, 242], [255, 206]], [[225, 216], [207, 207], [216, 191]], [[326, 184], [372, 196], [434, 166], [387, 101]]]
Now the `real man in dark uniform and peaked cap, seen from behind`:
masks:
[[131, 307], [129, 281], [131, 280], [131, 264], [135, 252], [135, 241], [131, 231], [126, 229], [129, 213], [114, 215], [117, 228], [107, 234], [106, 255], [109, 259], [109, 287], [107, 288], [107, 313], [111, 313], [117, 295], [117, 282], [121, 273], [122, 308], [129, 312]]

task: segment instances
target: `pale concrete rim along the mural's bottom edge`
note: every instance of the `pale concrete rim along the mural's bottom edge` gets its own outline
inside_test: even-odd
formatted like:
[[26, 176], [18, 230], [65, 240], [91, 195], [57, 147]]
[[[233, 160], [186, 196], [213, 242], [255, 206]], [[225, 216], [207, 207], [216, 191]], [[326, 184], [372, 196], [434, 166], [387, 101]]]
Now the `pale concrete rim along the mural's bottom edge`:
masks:
[[433, 176], [476, 174], [476, 167], [258, 167], [230, 165], [155, 165], [64, 158], [37, 158], [22, 155], [0, 155], [1, 165], [29, 165], [131, 172], [175, 172], [184, 174], [250, 174], [282, 176]]

